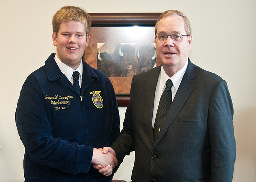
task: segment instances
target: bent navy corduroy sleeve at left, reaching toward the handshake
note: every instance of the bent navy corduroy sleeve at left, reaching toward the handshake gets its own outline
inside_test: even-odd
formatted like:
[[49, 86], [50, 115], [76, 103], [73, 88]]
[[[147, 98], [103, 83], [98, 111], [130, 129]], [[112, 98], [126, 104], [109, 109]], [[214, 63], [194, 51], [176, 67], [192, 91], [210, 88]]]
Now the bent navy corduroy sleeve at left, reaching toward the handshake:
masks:
[[36, 81], [24, 83], [16, 109], [16, 125], [25, 153], [37, 165], [69, 174], [87, 173], [93, 147], [53, 138], [42, 91]]

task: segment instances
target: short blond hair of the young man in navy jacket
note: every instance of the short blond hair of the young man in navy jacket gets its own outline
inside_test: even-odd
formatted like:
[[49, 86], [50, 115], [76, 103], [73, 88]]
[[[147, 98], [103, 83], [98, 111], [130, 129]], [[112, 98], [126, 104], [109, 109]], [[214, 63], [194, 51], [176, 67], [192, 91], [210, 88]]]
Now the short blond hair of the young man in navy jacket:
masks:
[[60, 24], [71, 20], [84, 23], [86, 25], [86, 34], [89, 34], [91, 27], [90, 15], [85, 10], [77, 6], [64, 6], [54, 14], [52, 18], [53, 32], [56, 32], [57, 35], [60, 29]]

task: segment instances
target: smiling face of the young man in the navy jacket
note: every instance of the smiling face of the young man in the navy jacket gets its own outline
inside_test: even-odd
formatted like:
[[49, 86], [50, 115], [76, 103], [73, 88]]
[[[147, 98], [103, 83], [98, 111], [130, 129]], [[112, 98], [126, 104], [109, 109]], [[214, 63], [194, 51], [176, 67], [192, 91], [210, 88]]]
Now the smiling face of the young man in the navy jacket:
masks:
[[80, 65], [84, 50], [88, 46], [89, 34], [86, 34], [85, 26], [75, 20], [62, 22], [59, 32], [52, 34], [58, 59], [73, 69]]

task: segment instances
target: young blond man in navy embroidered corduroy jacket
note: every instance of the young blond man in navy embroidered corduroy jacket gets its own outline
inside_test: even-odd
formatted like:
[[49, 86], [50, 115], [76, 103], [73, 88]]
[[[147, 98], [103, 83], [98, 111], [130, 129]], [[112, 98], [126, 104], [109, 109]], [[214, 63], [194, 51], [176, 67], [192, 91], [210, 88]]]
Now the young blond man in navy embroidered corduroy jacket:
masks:
[[[52, 24], [57, 53], [27, 77], [17, 104], [25, 180], [111, 181], [117, 160], [101, 148], [117, 138], [119, 112], [108, 77], [82, 61], [90, 16], [65, 6]], [[105, 167], [104, 175], [92, 164]]]

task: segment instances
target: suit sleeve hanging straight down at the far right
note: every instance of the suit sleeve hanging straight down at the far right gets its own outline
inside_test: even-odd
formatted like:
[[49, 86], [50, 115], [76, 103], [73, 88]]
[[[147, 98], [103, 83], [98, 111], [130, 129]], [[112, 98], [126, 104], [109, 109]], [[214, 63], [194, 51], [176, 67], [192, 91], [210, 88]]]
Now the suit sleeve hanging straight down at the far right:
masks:
[[210, 181], [232, 181], [236, 158], [233, 105], [224, 80], [218, 83], [212, 95], [208, 127], [211, 142]]

